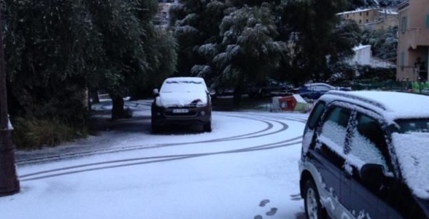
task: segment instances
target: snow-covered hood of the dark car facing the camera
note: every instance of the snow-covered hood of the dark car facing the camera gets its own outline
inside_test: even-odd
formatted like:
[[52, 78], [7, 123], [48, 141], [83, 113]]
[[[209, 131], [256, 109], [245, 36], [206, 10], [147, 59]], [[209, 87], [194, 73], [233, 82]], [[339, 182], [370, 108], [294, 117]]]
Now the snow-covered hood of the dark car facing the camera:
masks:
[[197, 102], [199, 104], [208, 103], [207, 94], [201, 92], [160, 93], [156, 99], [156, 105], [163, 107], [188, 106]]

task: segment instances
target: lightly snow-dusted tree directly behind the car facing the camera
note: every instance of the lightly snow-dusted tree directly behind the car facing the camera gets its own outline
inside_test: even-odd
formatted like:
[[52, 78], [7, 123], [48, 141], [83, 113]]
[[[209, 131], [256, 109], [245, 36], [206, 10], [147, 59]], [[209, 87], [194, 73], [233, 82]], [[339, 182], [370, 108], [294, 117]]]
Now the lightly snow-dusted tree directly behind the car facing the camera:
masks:
[[189, 76], [191, 72], [199, 75], [200, 67], [210, 68], [208, 58], [199, 50], [221, 40], [219, 25], [227, 7], [223, 0], [182, 0], [173, 5], [170, 25], [179, 45], [177, 76]]

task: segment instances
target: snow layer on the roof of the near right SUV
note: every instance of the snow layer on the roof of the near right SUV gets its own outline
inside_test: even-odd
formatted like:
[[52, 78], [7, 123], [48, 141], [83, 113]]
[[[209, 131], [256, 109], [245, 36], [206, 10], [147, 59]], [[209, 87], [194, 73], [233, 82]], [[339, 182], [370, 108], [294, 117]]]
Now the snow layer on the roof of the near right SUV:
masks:
[[429, 96], [394, 91], [329, 91], [322, 98], [356, 102], [376, 111], [387, 119], [411, 119], [429, 117]]

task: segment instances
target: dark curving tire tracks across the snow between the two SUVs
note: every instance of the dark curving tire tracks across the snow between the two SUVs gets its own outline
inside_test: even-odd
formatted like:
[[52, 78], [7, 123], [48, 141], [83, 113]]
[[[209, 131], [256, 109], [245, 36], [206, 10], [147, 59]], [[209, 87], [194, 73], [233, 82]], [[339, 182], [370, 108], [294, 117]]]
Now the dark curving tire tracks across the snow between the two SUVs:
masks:
[[[45, 163], [48, 161], [57, 161], [60, 159], [68, 159], [68, 158], [74, 158], [74, 157], [84, 157], [88, 155], [95, 155], [95, 154], [106, 154], [106, 153], [112, 153], [112, 152], [124, 152], [124, 151], [131, 151], [131, 150], [147, 150], [150, 148], [162, 148], [162, 147], [169, 147], [169, 146], [183, 146], [186, 144], [195, 144], [195, 143], [211, 143], [211, 142], [219, 142], [219, 141], [235, 141], [240, 139], [249, 139], [249, 138], [257, 138], [257, 137], [264, 137], [267, 135], [274, 135], [278, 132], [283, 132], [289, 126], [285, 122], [279, 122], [278, 120], [273, 120], [271, 116], [267, 115], [224, 115], [229, 117], [240, 117], [244, 119], [254, 119], [259, 122], [263, 122], [267, 124], [267, 128], [264, 128], [262, 130], [258, 130], [256, 132], [247, 133], [243, 135], [237, 135], [234, 137], [225, 137], [225, 138], [219, 138], [219, 139], [210, 139], [210, 140], [204, 140], [204, 141], [193, 141], [193, 142], [184, 142], [184, 143], [164, 143], [157, 146], [129, 146], [124, 148], [113, 148], [113, 149], [106, 149], [106, 150], [95, 150], [90, 152], [81, 152], [81, 153], [72, 153], [72, 154], [62, 154], [54, 157], [44, 157], [41, 159], [30, 159], [29, 161], [21, 161], [21, 165], [23, 164], [34, 164], [34, 163]], [[256, 119], [254, 117], [262, 117], [264, 119]], [[306, 119], [302, 118], [289, 118], [289, 117], [280, 117], [279, 119], [282, 120], [289, 120], [289, 121], [297, 121], [305, 123]], [[273, 132], [267, 132], [267, 130], [273, 129], [274, 124], [280, 124], [282, 128], [279, 130], [275, 130]], [[273, 143], [267, 143], [260, 146], [252, 146], [252, 147], [245, 147], [245, 148], [238, 148], [233, 150], [224, 150], [219, 152], [204, 152], [204, 153], [194, 153], [194, 154], [171, 154], [171, 155], [162, 155], [162, 156], [155, 156], [155, 157], [139, 157], [134, 159], [120, 159], [120, 160], [114, 160], [114, 161], [104, 161], [104, 162], [98, 162], [98, 163], [88, 163], [84, 165], [73, 165], [66, 168], [58, 168], [58, 169], [52, 169], [52, 170], [45, 170], [41, 172], [34, 172], [31, 174], [23, 174], [20, 176], [21, 181], [31, 181], [36, 180], [40, 178], [49, 178], [53, 176], [62, 176], [66, 174], [76, 174], [79, 172], [88, 172], [88, 171], [95, 171], [95, 170], [104, 170], [104, 169], [110, 169], [110, 168], [120, 168], [120, 167], [126, 167], [130, 165], [143, 165], [147, 163], [158, 163], [158, 162], [165, 162], [165, 161], [175, 161], [180, 159], [191, 159], [195, 157], [204, 157], [204, 156], [212, 156], [217, 154], [231, 154], [231, 153], [237, 153], [237, 152], [252, 152], [256, 150], [268, 150], [273, 148], [280, 148], [285, 146], [292, 146], [296, 145], [298, 143], [301, 143], [302, 136], [299, 137], [293, 137], [291, 139], [286, 139], [283, 141], [273, 142]]]

